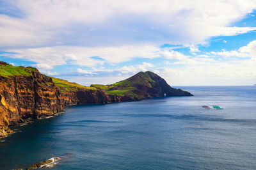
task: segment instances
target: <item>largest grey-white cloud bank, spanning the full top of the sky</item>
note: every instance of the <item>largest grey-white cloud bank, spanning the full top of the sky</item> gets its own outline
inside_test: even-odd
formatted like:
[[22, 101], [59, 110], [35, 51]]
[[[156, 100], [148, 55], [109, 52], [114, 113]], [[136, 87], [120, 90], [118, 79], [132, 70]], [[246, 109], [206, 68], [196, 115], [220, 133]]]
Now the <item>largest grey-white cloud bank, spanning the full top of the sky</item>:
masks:
[[20, 15], [0, 15], [2, 49], [60, 42], [63, 46], [86, 47], [148, 42], [196, 44], [209, 36], [232, 36], [256, 29], [230, 26], [256, 8], [254, 0], [11, 0], [4, 5], [15, 6]]

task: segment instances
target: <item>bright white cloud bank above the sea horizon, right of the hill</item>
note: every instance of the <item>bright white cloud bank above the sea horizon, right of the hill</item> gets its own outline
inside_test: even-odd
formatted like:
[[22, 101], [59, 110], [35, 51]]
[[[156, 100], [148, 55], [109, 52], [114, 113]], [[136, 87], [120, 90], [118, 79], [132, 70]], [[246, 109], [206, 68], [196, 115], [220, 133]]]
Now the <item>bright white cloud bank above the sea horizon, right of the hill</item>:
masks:
[[[256, 77], [256, 40], [237, 50], [211, 52], [229, 58], [228, 62], [214, 60], [211, 56], [189, 58], [186, 66], [164, 67], [160, 74], [175, 85], [252, 85]], [[237, 58], [232, 58], [237, 57]], [[246, 58], [245, 58], [246, 57]], [[184, 77], [184, 79], [183, 79]]]

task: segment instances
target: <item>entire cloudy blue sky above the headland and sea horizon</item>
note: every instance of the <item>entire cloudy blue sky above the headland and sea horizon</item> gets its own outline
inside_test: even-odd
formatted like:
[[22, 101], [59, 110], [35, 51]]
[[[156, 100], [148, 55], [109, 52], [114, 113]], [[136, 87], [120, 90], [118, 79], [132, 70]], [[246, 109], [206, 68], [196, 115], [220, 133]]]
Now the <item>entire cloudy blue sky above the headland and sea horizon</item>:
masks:
[[0, 61], [112, 84], [256, 84], [256, 0], [0, 0]]

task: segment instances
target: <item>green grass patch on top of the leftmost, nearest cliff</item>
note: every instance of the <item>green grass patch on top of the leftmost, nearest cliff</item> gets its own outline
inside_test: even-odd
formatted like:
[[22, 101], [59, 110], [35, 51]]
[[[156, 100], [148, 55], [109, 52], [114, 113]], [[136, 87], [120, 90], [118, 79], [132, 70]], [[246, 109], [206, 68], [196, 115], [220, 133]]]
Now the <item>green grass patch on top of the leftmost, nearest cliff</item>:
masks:
[[13, 75], [31, 75], [31, 71], [37, 71], [33, 67], [0, 65], [0, 75], [3, 77], [10, 77]]

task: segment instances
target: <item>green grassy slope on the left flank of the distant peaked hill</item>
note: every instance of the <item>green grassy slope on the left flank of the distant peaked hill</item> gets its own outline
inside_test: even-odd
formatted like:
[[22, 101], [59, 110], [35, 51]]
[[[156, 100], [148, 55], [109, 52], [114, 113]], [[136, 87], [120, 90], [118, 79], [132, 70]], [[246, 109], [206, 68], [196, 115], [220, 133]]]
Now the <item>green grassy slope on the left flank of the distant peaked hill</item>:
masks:
[[100, 85], [100, 84], [92, 84], [93, 87], [102, 89], [106, 93], [113, 95], [130, 95], [134, 97], [140, 97], [132, 92], [132, 90], [136, 89], [133, 84], [141, 84], [148, 87], [152, 87], [156, 81], [152, 80], [150, 77], [157, 76], [152, 72], [140, 72], [136, 75], [125, 79], [124, 81], [116, 82], [115, 84], [110, 85]]

